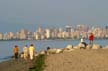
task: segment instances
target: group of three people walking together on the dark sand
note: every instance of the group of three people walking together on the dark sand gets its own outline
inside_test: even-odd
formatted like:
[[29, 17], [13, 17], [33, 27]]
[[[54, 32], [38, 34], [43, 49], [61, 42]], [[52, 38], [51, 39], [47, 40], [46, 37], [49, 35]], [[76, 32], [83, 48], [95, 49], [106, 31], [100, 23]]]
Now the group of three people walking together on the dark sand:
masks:
[[[19, 46], [15, 45], [13, 52], [14, 52], [15, 60], [18, 60], [18, 58], [19, 58]], [[22, 49], [21, 57], [23, 57], [25, 60], [27, 60], [27, 58], [29, 56], [30, 60], [33, 60], [34, 53], [35, 53], [35, 47], [33, 44], [30, 44], [29, 47], [27, 45], [25, 45]]]

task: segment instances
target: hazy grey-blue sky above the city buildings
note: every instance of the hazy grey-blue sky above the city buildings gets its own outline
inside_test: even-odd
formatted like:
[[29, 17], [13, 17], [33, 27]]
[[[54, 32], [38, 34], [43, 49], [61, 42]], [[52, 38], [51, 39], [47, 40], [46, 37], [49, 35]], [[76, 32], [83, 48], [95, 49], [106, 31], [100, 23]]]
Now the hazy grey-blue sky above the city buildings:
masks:
[[0, 32], [108, 25], [108, 0], [0, 0]]

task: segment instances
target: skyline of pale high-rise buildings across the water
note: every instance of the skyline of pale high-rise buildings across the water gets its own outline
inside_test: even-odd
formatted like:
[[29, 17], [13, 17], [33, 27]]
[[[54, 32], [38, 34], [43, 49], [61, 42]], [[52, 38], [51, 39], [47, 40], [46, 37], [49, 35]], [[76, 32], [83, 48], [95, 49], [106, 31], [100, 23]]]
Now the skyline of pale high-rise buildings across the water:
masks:
[[65, 26], [65, 28], [38, 27], [35, 31], [20, 29], [13, 32], [0, 32], [0, 40], [46, 40], [46, 39], [80, 39], [88, 38], [93, 33], [95, 38], [108, 38], [108, 26], [105, 28], [77, 25], [76, 27]]

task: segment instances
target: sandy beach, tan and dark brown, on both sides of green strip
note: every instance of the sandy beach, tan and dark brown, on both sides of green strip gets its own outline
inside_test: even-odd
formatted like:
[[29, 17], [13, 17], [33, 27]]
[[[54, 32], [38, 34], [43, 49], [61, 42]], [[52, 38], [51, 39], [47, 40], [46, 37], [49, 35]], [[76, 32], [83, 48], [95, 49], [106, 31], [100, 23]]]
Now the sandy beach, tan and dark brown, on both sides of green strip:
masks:
[[[10, 60], [0, 63], [0, 71], [28, 71], [31, 62]], [[44, 71], [108, 71], [108, 49], [77, 49], [50, 54], [45, 59]]]

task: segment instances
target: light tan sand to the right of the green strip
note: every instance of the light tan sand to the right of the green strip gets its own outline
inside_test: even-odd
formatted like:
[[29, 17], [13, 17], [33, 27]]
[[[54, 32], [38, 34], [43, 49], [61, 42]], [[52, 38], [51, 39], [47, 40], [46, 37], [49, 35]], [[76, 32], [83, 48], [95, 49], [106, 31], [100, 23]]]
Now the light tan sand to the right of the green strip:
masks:
[[44, 71], [108, 71], [108, 49], [52, 54], [45, 63]]

